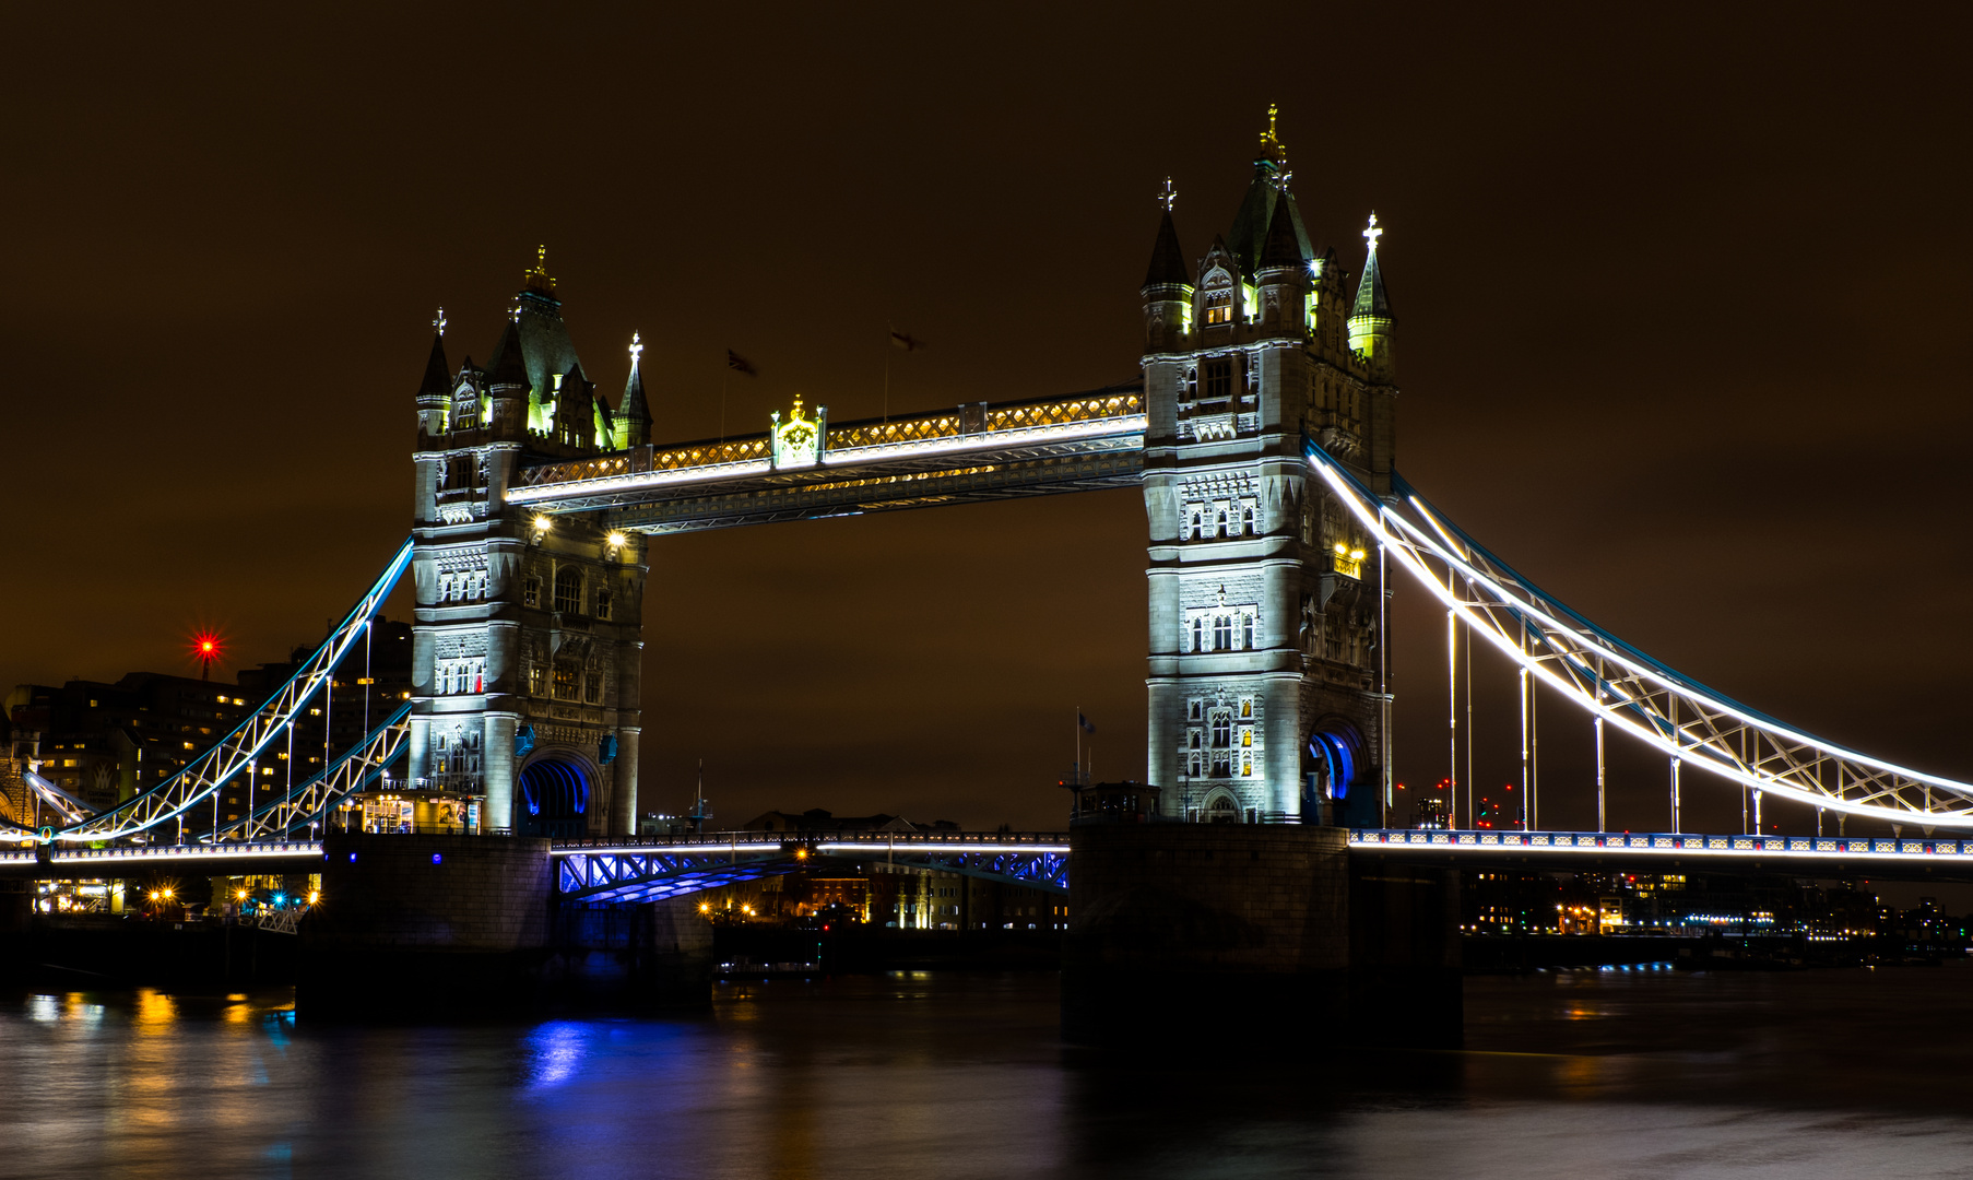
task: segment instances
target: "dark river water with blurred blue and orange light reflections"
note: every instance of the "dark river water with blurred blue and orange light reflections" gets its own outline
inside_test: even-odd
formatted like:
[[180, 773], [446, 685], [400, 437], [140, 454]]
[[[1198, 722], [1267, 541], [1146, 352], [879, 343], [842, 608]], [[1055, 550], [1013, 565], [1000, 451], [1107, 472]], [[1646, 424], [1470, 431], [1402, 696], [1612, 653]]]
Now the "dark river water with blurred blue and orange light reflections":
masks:
[[1065, 1050], [1042, 975], [734, 985], [673, 1020], [322, 1028], [282, 1000], [0, 996], [0, 1176], [1797, 1178], [1973, 1158], [1963, 965], [1472, 979], [1464, 1052], [1275, 1068]]

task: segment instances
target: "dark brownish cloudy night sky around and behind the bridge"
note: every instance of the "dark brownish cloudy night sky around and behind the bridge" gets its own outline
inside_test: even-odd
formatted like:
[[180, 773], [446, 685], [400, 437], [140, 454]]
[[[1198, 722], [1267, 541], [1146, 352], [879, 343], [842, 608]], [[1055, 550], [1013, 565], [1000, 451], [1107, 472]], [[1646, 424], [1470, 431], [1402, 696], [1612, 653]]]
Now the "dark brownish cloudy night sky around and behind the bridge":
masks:
[[[1204, 253], [1277, 101], [1312, 237], [1389, 229], [1415, 483], [1703, 681], [1973, 775], [1963, 10], [1649, 14], [14, 6], [0, 683], [320, 637], [408, 529], [432, 308], [485, 361], [537, 243], [612, 393], [643, 332], [659, 438], [718, 430], [726, 347], [734, 428], [874, 414], [890, 324], [931, 343], [894, 408], [1127, 379], [1154, 187]], [[1142, 539], [1119, 491], [655, 545], [645, 809], [704, 756], [722, 821], [1058, 827], [1077, 704], [1144, 775]], [[1428, 781], [1442, 618], [1399, 610]], [[1543, 722], [1545, 819], [1592, 823], [1588, 722]]]

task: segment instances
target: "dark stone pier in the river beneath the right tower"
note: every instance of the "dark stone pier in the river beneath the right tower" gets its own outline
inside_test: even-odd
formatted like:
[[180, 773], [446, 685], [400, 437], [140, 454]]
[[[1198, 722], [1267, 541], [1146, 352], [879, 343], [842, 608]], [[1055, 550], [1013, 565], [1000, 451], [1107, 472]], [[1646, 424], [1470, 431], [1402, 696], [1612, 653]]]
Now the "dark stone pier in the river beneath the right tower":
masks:
[[1087, 825], [1069, 845], [1067, 1040], [1458, 1044], [1456, 870], [1353, 868], [1332, 827]]

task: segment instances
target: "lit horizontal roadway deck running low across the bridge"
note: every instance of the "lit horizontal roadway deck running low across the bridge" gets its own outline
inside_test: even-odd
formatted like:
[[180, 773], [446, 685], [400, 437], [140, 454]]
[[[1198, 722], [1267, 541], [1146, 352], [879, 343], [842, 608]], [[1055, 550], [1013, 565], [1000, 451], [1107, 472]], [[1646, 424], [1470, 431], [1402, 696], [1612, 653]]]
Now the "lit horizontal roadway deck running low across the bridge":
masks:
[[[1401, 858], [1413, 864], [1456, 868], [1509, 868], [1529, 872], [1580, 872], [1630, 868], [1638, 872], [1782, 872], [1793, 876], [1870, 876], [1878, 880], [1973, 882], [1973, 839], [1898, 837], [1750, 837], [1695, 833], [1553, 833], [1553, 831], [1421, 831], [1355, 829], [1352, 856]], [[941, 868], [983, 864], [992, 856], [1061, 858], [1067, 833], [704, 833], [604, 841], [556, 841], [556, 860], [596, 856], [694, 854], [706, 866], [726, 858], [777, 860], [781, 872], [799, 868], [801, 856], [876, 860]], [[322, 841], [258, 841], [227, 845], [134, 845], [114, 848], [57, 848], [41, 860], [36, 850], [0, 852], [0, 878], [75, 880], [138, 878], [154, 872], [189, 876], [241, 876], [314, 872]], [[706, 876], [714, 876], [708, 872]], [[750, 876], [760, 876], [754, 872]], [[996, 874], [998, 876], [998, 874]], [[706, 884], [698, 888], [712, 888]], [[1044, 884], [1044, 882], [1036, 882]], [[1060, 882], [1046, 882], [1060, 888]]]

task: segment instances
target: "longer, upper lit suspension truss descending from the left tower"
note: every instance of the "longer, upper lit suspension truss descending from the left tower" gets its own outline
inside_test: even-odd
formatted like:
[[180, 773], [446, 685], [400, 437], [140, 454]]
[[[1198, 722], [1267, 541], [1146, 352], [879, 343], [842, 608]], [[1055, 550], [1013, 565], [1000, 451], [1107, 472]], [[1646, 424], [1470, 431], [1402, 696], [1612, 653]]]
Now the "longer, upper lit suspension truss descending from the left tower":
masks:
[[[306, 708], [318, 693], [329, 687], [335, 667], [345, 655], [349, 655], [351, 649], [355, 649], [357, 643], [363, 641], [363, 633], [367, 631], [371, 618], [383, 610], [385, 598], [389, 598], [391, 590], [397, 588], [397, 582], [404, 576], [404, 568], [408, 564], [410, 541], [397, 551], [377, 582], [357, 602], [349, 616], [343, 618], [341, 626], [329, 631], [329, 637], [322, 641], [322, 647], [316, 647], [302, 669], [288, 677], [288, 683], [282, 685], [280, 691], [274, 693], [264, 704], [260, 704], [251, 718], [241, 722], [239, 728], [225, 738], [219, 738], [211, 750], [199, 754], [183, 770], [148, 791], [134, 795], [109, 811], [91, 815], [81, 823], [55, 829], [51, 839], [85, 843], [130, 837], [189, 813], [191, 807], [207, 801], [213, 791], [229, 783], [233, 777], [251, 774], [280, 732], [294, 724], [294, 718], [302, 714], [302, 708]], [[207, 827], [211, 827], [209, 821]]]

